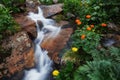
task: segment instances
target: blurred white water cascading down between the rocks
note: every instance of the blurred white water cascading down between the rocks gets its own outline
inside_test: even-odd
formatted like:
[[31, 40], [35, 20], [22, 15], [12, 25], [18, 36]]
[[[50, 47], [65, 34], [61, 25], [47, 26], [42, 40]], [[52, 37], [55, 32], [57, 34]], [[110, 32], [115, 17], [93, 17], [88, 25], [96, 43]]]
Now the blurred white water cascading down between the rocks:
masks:
[[[46, 32], [51, 32], [50, 37], [55, 37], [61, 30], [60, 27], [53, 26], [54, 21], [52, 19], [46, 19], [43, 16], [43, 12], [38, 8], [38, 13], [30, 12], [29, 18], [36, 22], [37, 26], [37, 38], [35, 39], [35, 68], [26, 70], [23, 80], [49, 80], [48, 76], [52, 71], [52, 60], [47, 55], [47, 51], [40, 47], [42, 40]], [[40, 30], [40, 26], [37, 21], [40, 20], [43, 23], [43, 28]]]

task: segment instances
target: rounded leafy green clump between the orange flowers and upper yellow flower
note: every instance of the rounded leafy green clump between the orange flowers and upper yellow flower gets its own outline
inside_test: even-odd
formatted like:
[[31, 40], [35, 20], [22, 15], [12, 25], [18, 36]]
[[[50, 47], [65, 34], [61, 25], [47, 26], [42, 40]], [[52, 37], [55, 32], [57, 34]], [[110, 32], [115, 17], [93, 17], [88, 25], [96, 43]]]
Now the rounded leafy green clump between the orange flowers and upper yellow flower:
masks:
[[[87, 27], [87, 26], [86, 26]], [[96, 34], [93, 31], [86, 30], [86, 27], [82, 28], [81, 30], [76, 30], [75, 33], [72, 35], [73, 38], [73, 46], [81, 48], [86, 51], [87, 53], [91, 53], [91, 50], [94, 50], [99, 45], [100, 35]], [[81, 39], [82, 35], [86, 37]]]

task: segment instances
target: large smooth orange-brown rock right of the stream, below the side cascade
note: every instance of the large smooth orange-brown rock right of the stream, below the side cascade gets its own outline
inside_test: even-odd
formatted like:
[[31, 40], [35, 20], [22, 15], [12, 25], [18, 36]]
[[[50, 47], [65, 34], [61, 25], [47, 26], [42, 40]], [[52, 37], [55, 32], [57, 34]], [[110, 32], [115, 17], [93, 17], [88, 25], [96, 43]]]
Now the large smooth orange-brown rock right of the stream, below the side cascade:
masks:
[[64, 46], [66, 45], [72, 32], [73, 32], [73, 29], [67, 27], [67, 28], [61, 29], [60, 33], [56, 37], [45, 38], [43, 40], [41, 44], [42, 48], [46, 49], [49, 52], [48, 55], [56, 63], [59, 63], [58, 54], [60, 50], [63, 49]]

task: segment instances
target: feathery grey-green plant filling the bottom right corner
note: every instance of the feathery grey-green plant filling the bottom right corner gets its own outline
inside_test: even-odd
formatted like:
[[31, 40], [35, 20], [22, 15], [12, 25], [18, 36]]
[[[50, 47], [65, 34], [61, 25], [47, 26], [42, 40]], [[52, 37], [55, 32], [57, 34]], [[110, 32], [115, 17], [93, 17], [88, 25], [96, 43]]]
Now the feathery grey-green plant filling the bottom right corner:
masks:
[[119, 80], [119, 53], [120, 49], [115, 47], [102, 49], [93, 57], [93, 61], [76, 70], [74, 80]]

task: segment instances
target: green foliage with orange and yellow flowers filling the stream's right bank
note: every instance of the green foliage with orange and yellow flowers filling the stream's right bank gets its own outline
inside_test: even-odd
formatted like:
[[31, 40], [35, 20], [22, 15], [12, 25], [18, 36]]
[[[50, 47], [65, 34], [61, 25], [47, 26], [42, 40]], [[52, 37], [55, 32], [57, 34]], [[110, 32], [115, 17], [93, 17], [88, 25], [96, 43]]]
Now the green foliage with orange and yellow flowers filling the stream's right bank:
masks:
[[102, 35], [110, 32], [108, 22], [120, 23], [119, 3], [119, 0], [64, 0], [64, 13], [75, 15], [76, 30], [72, 48], [63, 59], [74, 65], [66, 64], [56, 80], [120, 79], [120, 48], [104, 48], [100, 44]]

